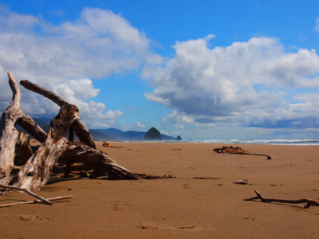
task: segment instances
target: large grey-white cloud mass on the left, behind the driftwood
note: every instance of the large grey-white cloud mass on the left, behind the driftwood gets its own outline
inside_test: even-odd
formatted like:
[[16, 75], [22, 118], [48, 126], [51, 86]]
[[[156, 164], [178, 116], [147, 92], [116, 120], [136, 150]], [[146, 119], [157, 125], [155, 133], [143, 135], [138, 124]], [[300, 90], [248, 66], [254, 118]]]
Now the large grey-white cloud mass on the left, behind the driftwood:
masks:
[[[53, 25], [44, 18], [0, 8], [0, 109], [11, 101], [6, 71], [55, 91], [80, 109], [88, 127], [109, 127], [123, 116], [90, 100], [99, 94], [90, 79], [136, 71], [162, 61], [143, 31], [121, 15], [83, 9], [78, 19]], [[20, 87], [21, 89], [22, 87]], [[59, 107], [21, 89], [21, 107], [31, 116], [55, 115]], [[90, 100], [90, 101], [88, 101]]]

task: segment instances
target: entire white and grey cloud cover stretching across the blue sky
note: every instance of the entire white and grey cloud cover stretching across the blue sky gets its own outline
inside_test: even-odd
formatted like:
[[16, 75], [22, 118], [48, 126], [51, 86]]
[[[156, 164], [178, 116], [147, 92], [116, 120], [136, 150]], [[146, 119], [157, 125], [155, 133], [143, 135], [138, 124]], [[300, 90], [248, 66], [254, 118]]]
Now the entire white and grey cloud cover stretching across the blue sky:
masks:
[[[319, 32], [318, 24], [316, 18]], [[171, 109], [158, 121], [174, 127], [165, 128], [167, 134], [191, 134], [189, 126], [203, 135], [212, 127], [225, 135], [231, 135], [229, 126], [265, 135], [319, 128], [319, 56], [314, 49], [291, 51], [278, 38], [258, 36], [210, 47], [216, 36], [209, 34], [176, 41], [174, 53], [164, 56], [153, 49], [147, 33], [120, 14], [90, 7], [73, 21], [53, 24], [41, 15], [0, 6], [0, 33], [2, 110], [12, 98], [6, 75], [10, 70], [18, 83], [29, 80], [77, 105], [89, 128], [146, 129], [144, 116], [120, 125], [125, 114], [116, 104], [94, 99], [103, 93], [93, 80], [107, 84], [108, 77], [135, 74], [153, 89], [144, 92], [146, 100]], [[58, 113], [59, 106], [50, 100], [20, 90], [27, 114]]]

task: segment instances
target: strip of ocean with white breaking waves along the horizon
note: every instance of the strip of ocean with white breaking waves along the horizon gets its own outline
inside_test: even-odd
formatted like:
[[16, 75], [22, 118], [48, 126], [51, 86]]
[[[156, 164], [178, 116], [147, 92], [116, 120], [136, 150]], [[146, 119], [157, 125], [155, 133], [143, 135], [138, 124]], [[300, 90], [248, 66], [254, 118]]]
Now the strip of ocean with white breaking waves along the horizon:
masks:
[[319, 145], [319, 139], [182, 140], [182, 141], [154, 141], [154, 142], [220, 143], [220, 144]]

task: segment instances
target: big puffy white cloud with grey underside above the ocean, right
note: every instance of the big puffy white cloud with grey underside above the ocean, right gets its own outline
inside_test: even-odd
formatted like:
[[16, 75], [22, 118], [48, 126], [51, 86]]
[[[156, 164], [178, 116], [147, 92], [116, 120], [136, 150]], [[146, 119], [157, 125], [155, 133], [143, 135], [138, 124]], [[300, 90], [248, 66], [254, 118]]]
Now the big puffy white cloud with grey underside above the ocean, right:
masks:
[[319, 94], [303, 92], [319, 87], [314, 49], [286, 52], [269, 37], [210, 49], [210, 39], [176, 42], [173, 59], [145, 72], [154, 88], [145, 97], [173, 108], [167, 119], [176, 125], [319, 127]]

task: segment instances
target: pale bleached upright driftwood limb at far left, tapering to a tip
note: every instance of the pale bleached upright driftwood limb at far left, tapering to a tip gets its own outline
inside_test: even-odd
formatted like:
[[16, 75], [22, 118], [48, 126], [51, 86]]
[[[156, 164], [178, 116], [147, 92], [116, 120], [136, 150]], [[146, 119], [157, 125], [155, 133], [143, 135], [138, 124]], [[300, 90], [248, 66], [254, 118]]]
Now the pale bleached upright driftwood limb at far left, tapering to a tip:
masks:
[[12, 101], [1, 116], [0, 121], [0, 179], [9, 177], [15, 157], [15, 146], [19, 131], [14, 127], [20, 116], [20, 89], [12, 73], [8, 71], [9, 85], [13, 93]]

